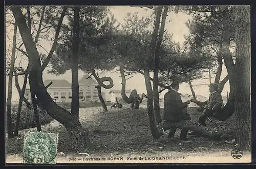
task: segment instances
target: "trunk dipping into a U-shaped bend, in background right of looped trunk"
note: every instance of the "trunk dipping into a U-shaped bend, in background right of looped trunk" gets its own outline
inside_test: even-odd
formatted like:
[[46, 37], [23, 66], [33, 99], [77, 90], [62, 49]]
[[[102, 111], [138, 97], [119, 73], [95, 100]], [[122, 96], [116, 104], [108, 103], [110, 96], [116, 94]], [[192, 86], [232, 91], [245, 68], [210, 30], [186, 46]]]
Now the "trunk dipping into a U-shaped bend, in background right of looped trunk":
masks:
[[140, 103], [142, 102], [143, 97], [140, 98], [136, 89], [132, 90], [130, 96], [127, 97], [126, 94], [125, 94], [126, 79], [125, 79], [125, 75], [124, 75], [122, 66], [120, 66], [120, 74], [121, 74], [121, 77], [122, 77], [121, 96], [122, 96], [123, 100], [126, 103], [131, 104], [132, 108], [138, 109], [139, 106], [140, 106]]

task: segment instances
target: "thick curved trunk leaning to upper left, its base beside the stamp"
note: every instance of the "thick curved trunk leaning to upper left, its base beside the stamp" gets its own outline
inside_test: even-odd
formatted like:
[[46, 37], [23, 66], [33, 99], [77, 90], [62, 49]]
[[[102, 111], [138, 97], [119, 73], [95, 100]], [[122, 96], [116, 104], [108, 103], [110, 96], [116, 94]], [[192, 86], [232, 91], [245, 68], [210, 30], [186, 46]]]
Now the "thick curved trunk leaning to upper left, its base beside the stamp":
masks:
[[42, 81], [42, 72], [39, 54], [31, 34], [29, 34], [26, 20], [19, 7], [10, 7], [15, 20], [17, 21], [20, 35], [22, 36], [26, 50], [29, 56], [29, 77], [31, 79], [30, 88], [34, 90], [37, 101], [46, 110], [48, 114], [66, 127], [71, 146], [76, 151], [84, 151], [89, 144], [89, 130], [83, 128], [78, 119], [66, 109], [58, 106], [48, 94], [44, 82]]

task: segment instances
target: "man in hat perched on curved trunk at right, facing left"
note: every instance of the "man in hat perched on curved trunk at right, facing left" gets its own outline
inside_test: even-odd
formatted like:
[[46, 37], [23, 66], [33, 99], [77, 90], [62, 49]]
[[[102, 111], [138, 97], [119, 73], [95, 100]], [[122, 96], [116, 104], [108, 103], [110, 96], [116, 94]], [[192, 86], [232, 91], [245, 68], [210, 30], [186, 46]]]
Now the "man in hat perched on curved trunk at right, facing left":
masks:
[[208, 87], [210, 91], [209, 100], [207, 104], [204, 106], [204, 115], [199, 118], [199, 123], [203, 126], [205, 126], [205, 119], [211, 116], [217, 117], [223, 106], [222, 96], [220, 92], [218, 92], [219, 84], [210, 83]]

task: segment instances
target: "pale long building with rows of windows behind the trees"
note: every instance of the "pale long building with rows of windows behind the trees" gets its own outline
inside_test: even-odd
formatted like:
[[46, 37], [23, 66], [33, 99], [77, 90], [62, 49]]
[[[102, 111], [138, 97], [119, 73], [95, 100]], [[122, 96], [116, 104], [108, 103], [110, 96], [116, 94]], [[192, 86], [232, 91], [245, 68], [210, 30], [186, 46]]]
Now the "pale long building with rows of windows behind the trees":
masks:
[[[98, 83], [91, 77], [83, 76], [79, 80], [79, 101], [91, 102], [99, 101], [98, 91], [95, 88]], [[72, 92], [71, 83], [65, 79], [53, 79], [45, 80], [44, 85], [47, 86], [52, 81], [52, 85], [47, 88], [47, 92], [53, 98], [55, 102], [71, 102]], [[25, 97], [31, 100], [30, 89], [26, 89]], [[105, 100], [105, 93], [102, 93], [102, 97]]]

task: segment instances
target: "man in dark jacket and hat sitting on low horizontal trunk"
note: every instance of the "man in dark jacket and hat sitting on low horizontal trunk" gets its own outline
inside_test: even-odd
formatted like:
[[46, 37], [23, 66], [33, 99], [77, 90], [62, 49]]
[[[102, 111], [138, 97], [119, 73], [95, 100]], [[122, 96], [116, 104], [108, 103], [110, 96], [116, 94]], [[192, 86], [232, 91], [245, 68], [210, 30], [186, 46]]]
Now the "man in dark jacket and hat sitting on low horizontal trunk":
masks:
[[[165, 95], [164, 95], [164, 117], [163, 122], [159, 124], [158, 128], [160, 129], [160, 132], [163, 130], [168, 130], [168, 138], [171, 138], [174, 136], [176, 132], [176, 127], [172, 127], [172, 123], [179, 122], [181, 119], [190, 120], [189, 115], [184, 111], [183, 109], [187, 107], [190, 101], [186, 101], [182, 103], [181, 97], [178, 93], [179, 90], [179, 82], [174, 81], [171, 84], [172, 89], [170, 89]], [[180, 134], [181, 140], [187, 140], [187, 131], [186, 129], [182, 129]]]

